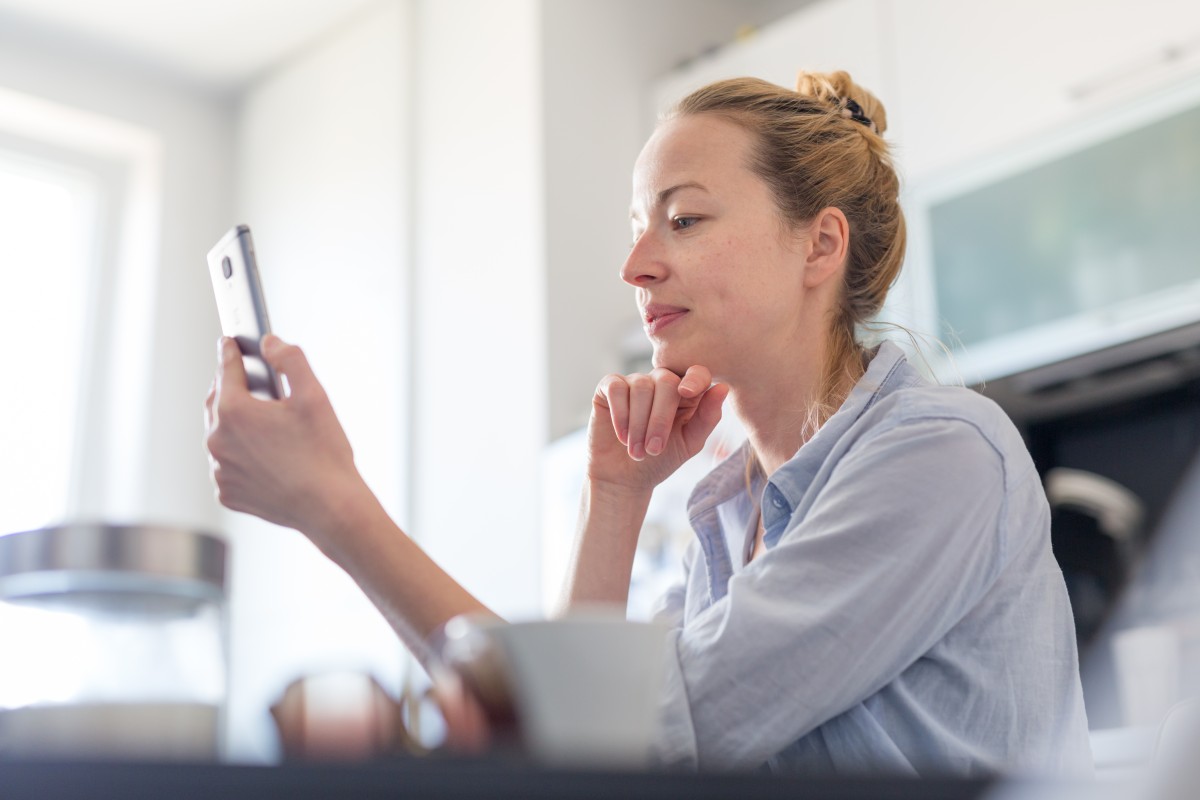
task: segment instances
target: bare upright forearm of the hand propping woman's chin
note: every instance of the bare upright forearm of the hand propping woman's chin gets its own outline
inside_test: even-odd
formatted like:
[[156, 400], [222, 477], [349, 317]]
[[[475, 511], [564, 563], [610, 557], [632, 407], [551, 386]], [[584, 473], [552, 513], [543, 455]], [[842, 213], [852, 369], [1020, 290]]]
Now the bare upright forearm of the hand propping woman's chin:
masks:
[[629, 579], [650, 491], [586, 481], [562, 610], [629, 602]]

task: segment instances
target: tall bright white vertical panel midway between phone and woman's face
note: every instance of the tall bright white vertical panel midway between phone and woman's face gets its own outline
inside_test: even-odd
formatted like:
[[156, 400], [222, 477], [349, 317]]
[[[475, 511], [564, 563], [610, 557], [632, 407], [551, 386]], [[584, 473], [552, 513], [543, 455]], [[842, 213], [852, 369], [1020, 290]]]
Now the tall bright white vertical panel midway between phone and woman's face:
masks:
[[540, 610], [540, 5], [415, 4], [413, 531], [514, 615]]

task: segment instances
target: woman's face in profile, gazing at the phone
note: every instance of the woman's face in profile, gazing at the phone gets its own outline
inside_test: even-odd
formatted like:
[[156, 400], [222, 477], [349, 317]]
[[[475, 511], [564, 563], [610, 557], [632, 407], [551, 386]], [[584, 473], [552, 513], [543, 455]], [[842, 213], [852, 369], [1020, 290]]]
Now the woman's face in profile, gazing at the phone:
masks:
[[[796, 357], [804, 342], [805, 233], [782, 224], [748, 167], [751, 134], [713, 115], [665, 122], [634, 168], [634, 246], [620, 271], [637, 289], [654, 366], [714, 378]], [[768, 361], [769, 363], [769, 361]]]

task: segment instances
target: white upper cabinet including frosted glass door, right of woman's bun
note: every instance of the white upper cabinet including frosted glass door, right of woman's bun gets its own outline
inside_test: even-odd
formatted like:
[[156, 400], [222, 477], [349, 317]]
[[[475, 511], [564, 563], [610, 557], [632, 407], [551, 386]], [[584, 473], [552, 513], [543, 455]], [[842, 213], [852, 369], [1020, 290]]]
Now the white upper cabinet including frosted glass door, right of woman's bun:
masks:
[[1195, 251], [1169, 221], [1195, 205], [1195, 125], [1147, 126], [1200, 97], [1200, 4], [890, 8], [910, 222], [893, 315], [953, 327], [968, 381], [1194, 321]]

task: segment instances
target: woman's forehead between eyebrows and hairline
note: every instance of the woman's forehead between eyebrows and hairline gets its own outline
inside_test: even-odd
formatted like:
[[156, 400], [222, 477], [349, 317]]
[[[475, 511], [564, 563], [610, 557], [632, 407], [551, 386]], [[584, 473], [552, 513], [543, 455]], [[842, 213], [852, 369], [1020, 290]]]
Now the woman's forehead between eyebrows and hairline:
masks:
[[751, 179], [751, 144], [745, 128], [712, 114], [662, 122], [634, 166], [634, 209], [649, 207], [660, 192], [679, 184], [715, 188]]

